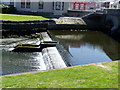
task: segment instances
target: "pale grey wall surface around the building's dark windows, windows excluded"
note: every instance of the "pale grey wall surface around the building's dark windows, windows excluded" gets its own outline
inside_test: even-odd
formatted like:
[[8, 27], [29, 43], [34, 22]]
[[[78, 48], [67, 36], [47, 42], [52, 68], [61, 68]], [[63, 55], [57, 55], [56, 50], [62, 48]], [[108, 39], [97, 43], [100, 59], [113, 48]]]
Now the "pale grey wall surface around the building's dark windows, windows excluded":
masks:
[[38, 2], [31, 2], [30, 8], [21, 8], [21, 2], [16, 2], [16, 8], [18, 11], [30, 11], [30, 12], [44, 12], [44, 13], [54, 13], [55, 11], [66, 13], [69, 7], [71, 6], [70, 2], [64, 2], [63, 10], [53, 10], [53, 2], [44, 2], [43, 9], [39, 9]]

